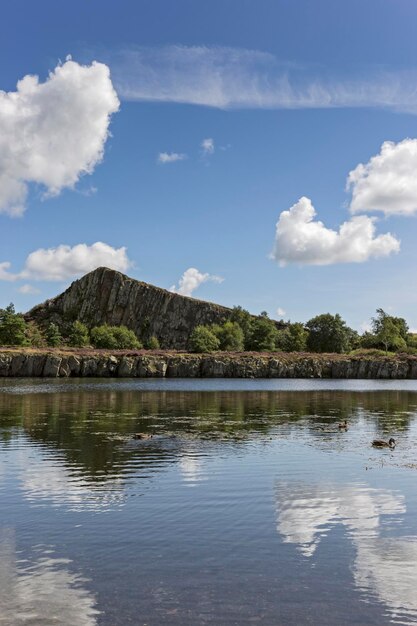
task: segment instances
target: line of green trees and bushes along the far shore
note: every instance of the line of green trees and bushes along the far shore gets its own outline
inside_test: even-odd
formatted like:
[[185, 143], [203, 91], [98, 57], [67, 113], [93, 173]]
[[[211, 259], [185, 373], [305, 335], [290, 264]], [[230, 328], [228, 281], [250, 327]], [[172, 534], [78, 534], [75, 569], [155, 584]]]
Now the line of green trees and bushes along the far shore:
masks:
[[[155, 336], [138, 338], [125, 326], [107, 324], [88, 328], [75, 321], [66, 334], [54, 323], [40, 327], [26, 322], [15, 312], [13, 304], [0, 309], [0, 346], [60, 347], [157, 350]], [[163, 346], [162, 346], [163, 347]], [[306, 324], [288, 322], [278, 329], [266, 312], [254, 317], [240, 306], [234, 307], [223, 324], [196, 326], [190, 333], [189, 349], [193, 352], [336, 352], [360, 350], [407, 352], [417, 354], [417, 335], [410, 333], [402, 317], [388, 315], [377, 309], [371, 330], [359, 335], [349, 328], [340, 315], [324, 313]]]

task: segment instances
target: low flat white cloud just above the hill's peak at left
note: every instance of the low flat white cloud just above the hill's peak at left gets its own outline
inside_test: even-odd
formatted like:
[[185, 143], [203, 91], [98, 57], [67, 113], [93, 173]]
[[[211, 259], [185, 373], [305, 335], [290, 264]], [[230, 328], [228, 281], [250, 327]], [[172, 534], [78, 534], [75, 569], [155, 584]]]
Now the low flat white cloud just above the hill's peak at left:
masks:
[[0, 280], [59, 281], [80, 276], [102, 266], [125, 272], [131, 265], [124, 247], [113, 248], [101, 241], [91, 246], [79, 243], [72, 248], [60, 245], [31, 252], [23, 270], [18, 274], [9, 271], [10, 263], [0, 263]]

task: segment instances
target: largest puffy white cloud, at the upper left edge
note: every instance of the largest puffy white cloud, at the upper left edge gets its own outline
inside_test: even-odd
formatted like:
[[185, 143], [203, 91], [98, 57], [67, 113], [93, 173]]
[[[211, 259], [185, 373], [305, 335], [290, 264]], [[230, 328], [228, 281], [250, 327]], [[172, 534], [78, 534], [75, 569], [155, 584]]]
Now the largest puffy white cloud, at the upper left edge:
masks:
[[22, 215], [28, 183], [53, 196], [91, 174], [118, 108], [103, 63], [69, 59], [44, 83], [27, 75], [15, 92], [0, 91], [0, 213]]

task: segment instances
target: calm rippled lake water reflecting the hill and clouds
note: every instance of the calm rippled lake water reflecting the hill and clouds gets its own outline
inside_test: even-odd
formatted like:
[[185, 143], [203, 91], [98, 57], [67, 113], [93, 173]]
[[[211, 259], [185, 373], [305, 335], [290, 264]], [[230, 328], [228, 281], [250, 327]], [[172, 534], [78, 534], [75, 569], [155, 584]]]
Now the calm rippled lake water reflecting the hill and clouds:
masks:
[[417, 624], [416, 484], [416, 381], [3, 380], [0, 624]]

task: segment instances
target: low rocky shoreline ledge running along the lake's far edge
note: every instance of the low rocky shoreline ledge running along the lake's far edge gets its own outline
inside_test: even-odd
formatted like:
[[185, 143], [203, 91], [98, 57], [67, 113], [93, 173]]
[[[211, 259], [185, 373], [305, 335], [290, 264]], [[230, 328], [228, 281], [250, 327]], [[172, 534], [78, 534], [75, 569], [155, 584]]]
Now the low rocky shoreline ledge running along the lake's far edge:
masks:
[[0, 377], [417, 379], [417, 358], [4, 349]]

